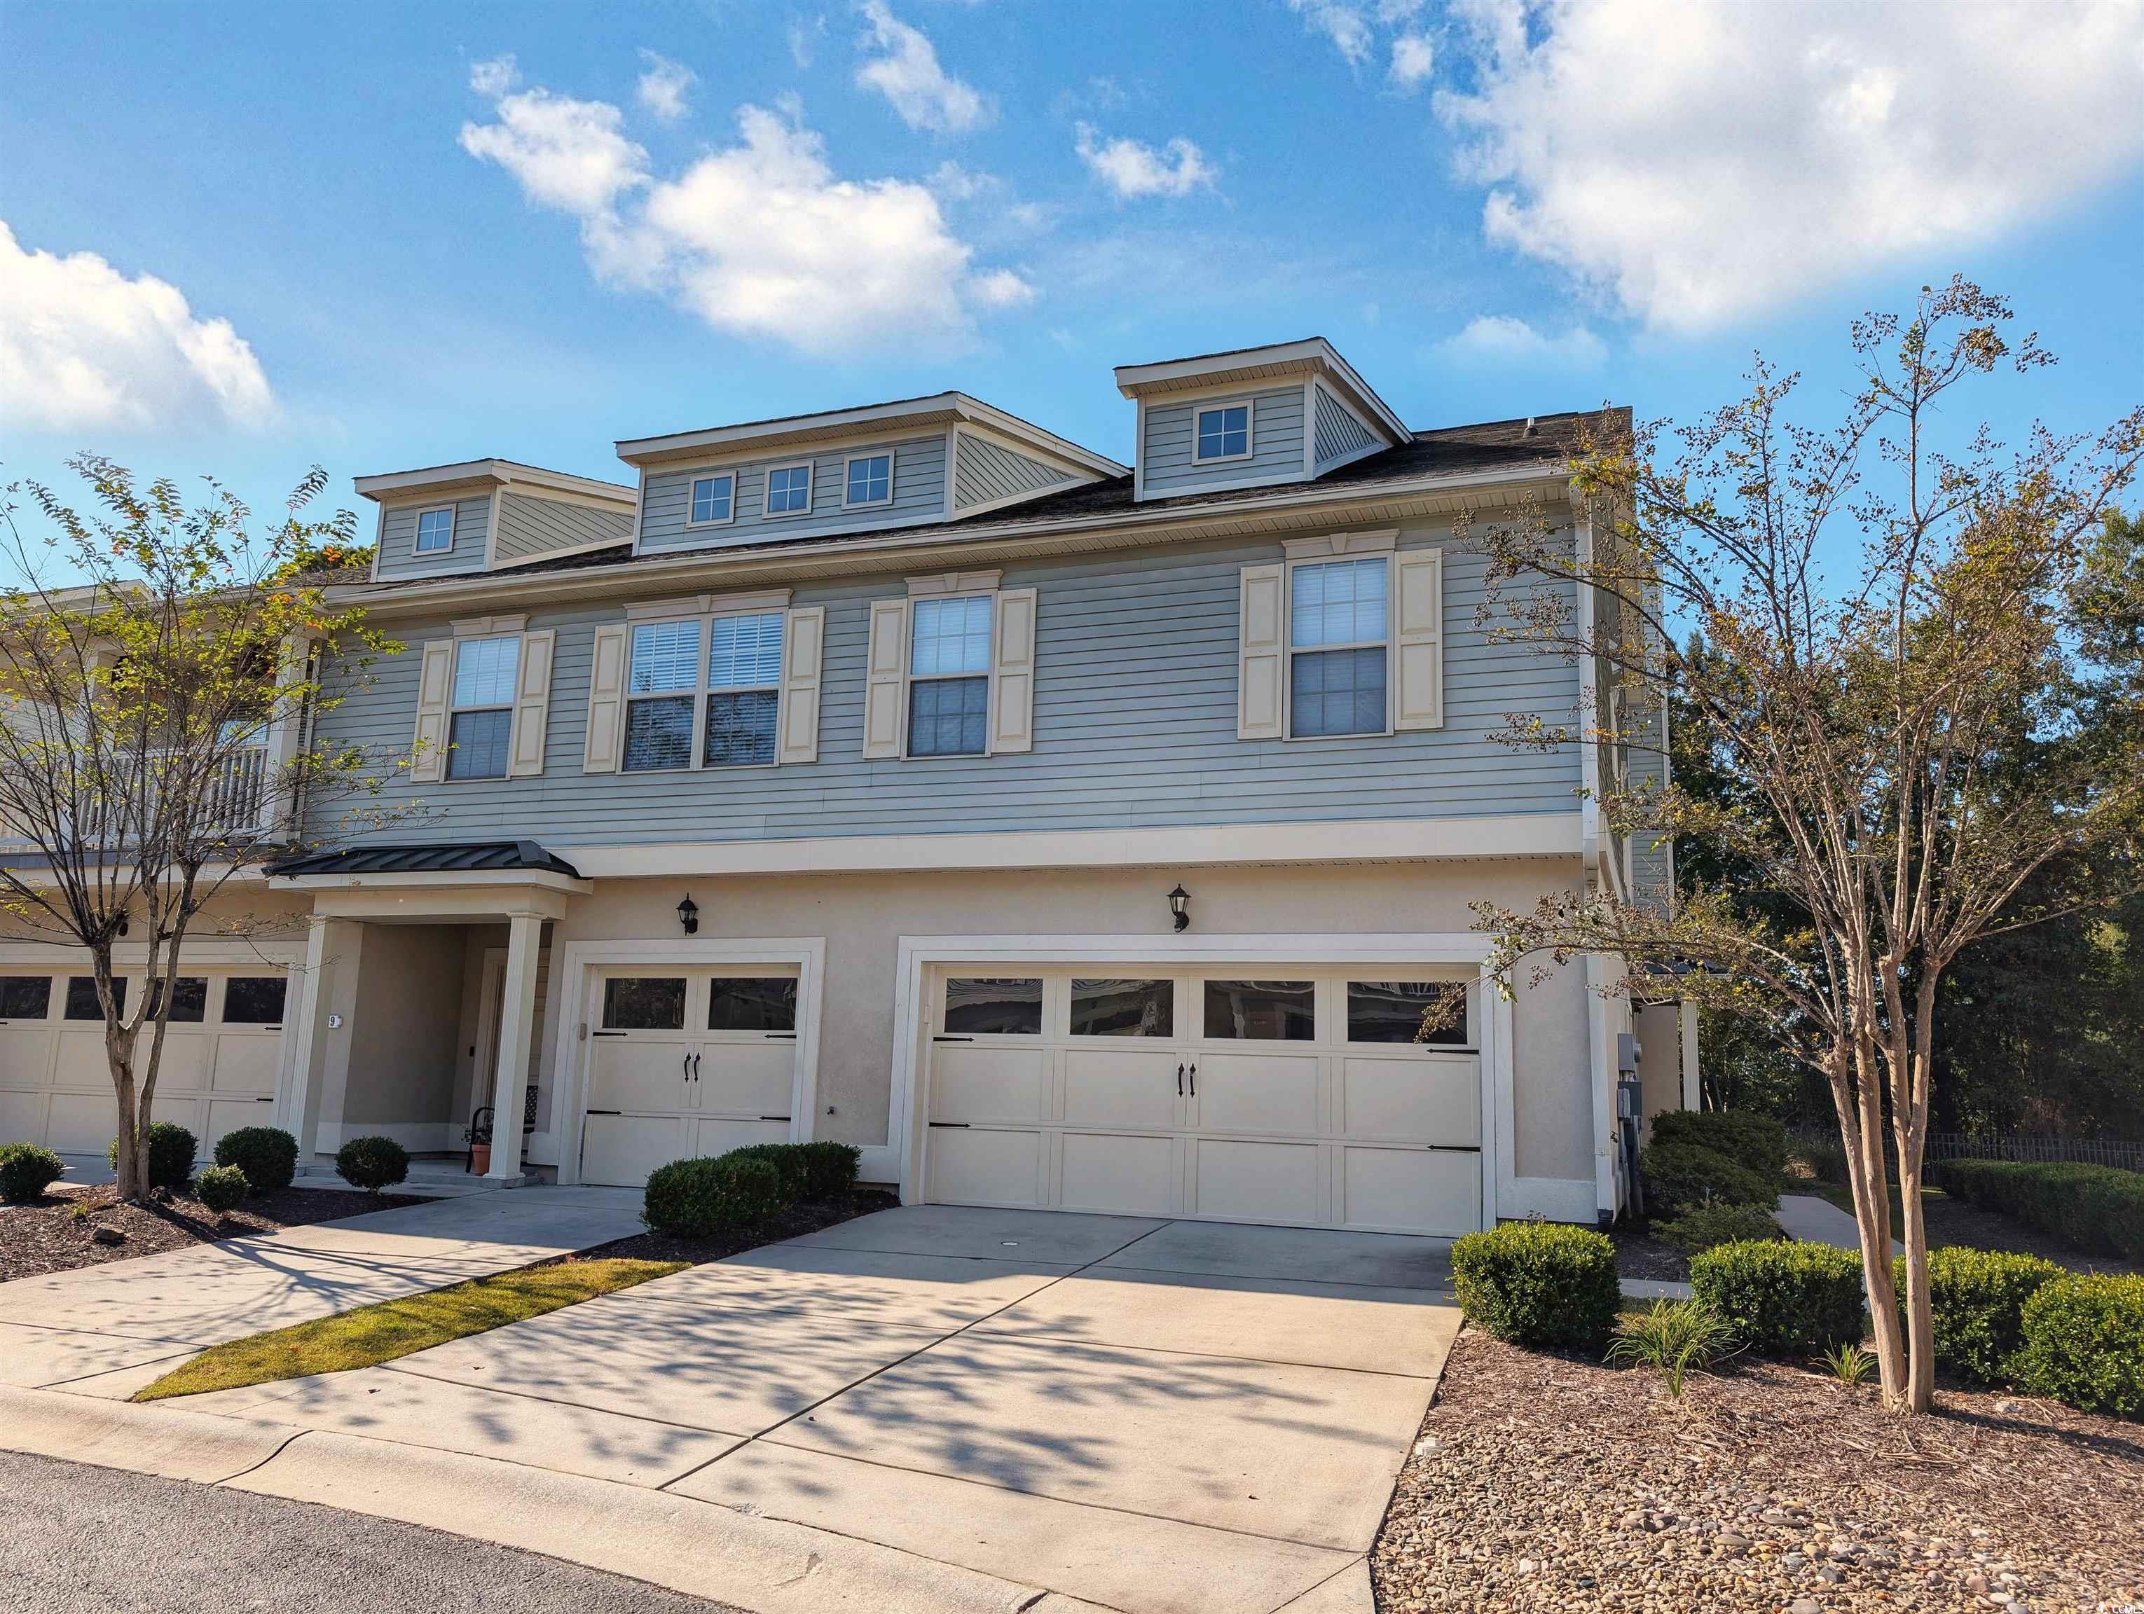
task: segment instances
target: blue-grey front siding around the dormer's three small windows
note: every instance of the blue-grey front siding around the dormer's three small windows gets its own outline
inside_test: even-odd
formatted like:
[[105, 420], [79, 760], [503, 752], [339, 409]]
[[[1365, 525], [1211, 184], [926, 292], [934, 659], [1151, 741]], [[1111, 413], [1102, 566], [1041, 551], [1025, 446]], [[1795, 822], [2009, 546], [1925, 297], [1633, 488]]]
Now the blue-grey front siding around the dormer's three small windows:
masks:
[[[894, 457], [894, 502], [845, 510], [843, 467], [858, 454]], [[810, 463], [810, 514], [768, 519], [768, 472], [780, 465]], [[710, 474], [738, 476], [735, 521], [720, 527], [690, 527], [693, 478]], [[662, 472], [647, 478], [641, 495], [641, 549], [727, 549], [731, 544], [765, 544], [804, 532], [873, 532], [911, 521], [939, 521], [946, 514], [946, 437], [911, 437], [898, 444], [843, 444], [825, 452], [798, 450], [770, 454], [744, 465], [720, 465]]]

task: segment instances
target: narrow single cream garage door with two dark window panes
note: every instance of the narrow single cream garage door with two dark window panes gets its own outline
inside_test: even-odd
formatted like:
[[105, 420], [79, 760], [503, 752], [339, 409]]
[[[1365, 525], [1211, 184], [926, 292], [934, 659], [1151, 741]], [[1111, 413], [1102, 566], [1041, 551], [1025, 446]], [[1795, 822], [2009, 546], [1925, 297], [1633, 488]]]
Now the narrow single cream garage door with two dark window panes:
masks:
[[795, 969], [598, 973], [581, 1181], [639, 1187], [686, 1155], [787, 1142]]

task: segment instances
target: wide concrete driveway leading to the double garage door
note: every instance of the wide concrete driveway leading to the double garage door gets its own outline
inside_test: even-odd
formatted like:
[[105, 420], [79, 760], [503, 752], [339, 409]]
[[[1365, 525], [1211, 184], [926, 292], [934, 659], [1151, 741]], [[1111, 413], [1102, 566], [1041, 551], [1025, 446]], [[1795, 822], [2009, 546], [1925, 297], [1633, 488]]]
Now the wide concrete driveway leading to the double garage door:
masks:
[[1432, 1239], [907, 1207], [167, 1406], [665, 1490], [1136, 1614], [1368, 1612], [1456, 1331]]

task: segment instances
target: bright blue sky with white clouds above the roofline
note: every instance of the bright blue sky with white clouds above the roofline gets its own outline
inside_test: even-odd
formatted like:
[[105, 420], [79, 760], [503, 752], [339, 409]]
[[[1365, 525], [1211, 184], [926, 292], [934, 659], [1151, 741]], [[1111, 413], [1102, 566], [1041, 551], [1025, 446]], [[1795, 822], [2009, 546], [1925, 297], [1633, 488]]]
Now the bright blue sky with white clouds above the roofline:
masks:
[[0, 480], [270, 502], [1329, 337], [1419, 427], [1687, 416], [1964, 270], [2144, 397], [2144, 6], [0, 0]]

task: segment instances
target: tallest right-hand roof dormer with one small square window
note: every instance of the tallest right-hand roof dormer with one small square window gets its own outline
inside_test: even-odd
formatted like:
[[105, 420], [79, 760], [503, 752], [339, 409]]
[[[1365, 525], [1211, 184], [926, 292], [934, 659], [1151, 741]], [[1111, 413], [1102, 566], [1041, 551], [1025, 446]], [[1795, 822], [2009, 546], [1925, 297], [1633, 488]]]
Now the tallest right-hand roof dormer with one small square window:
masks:
[[1117, 390], [1138, 403], [1136, 499], [1310, 482], [1413, 442], [1323, 337], [1119, 364]]

